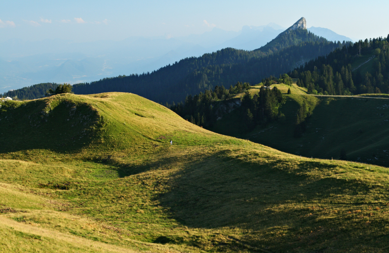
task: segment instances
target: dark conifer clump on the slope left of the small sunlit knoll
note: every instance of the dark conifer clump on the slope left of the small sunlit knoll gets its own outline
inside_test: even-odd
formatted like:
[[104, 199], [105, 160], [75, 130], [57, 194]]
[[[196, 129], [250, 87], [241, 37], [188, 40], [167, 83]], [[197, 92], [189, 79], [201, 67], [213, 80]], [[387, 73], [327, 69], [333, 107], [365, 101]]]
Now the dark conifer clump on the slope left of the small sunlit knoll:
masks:
[[[277, 88], [266, 89], [262, 86], [258, 94], [251, 96], [250, 84], [238, 82], [227, 90], [223, 86], [200, 92], [195, 96], [187, 96], [184, 103], [167, 105], [172, 111], [187, 119], [193, 124], [210, 129], [219, 117], [236, 109], [242, 116], [242, 132], [252, 130], [258, 124], [266, 124], [278, 119], [279, 107], [285, 103], [285, 97]], [[232, 98], [236, 94], [244, 93], [242, 100]], [[234, 100], [238, 100], [235, 103]], [[237, 105], [231, 108], [232, 105]]]

